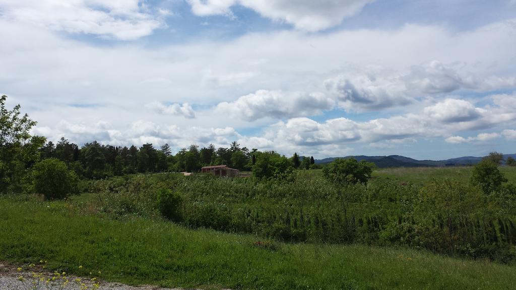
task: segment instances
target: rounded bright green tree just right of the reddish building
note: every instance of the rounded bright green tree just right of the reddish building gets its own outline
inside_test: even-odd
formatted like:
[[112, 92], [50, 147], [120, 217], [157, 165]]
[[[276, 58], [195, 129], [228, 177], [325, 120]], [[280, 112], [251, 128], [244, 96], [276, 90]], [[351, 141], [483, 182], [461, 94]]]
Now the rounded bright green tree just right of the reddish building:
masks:
[[256, 163], [252, 167], [256, 178], [287, 179], [292, 176], [294, 167], [287, 157], [274, 151], [256, 154]]

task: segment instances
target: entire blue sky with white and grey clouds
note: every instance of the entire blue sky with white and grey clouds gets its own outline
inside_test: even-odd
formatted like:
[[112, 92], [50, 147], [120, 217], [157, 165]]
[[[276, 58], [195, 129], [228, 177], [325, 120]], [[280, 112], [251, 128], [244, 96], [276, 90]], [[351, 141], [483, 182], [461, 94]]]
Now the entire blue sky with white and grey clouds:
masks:
[[0, 0], [0, 39], [53, 141], [516, 153], [515, 0]]

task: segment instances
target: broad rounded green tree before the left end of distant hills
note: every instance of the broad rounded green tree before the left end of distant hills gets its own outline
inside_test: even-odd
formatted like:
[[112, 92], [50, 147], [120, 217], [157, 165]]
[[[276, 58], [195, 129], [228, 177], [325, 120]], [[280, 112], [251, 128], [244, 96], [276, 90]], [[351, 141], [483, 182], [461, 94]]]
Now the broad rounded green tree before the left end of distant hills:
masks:
[[374, 163], [362, 160], [358, 162], [355, 158], [337, 158], [334, 162], [322, 168], [322, 173], [329, 181], [338, 184], [367, 183], [375, 168]]

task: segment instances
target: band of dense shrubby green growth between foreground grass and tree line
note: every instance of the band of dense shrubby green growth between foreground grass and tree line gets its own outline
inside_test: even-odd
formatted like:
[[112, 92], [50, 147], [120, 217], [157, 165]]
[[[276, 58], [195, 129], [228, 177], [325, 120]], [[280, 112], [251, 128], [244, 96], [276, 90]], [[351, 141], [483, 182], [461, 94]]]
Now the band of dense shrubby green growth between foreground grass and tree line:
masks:
[[[98, 208], [115, 217], [157, 217], [161, 187], [181, 195], [187, 227], [290, 242], [400, 245], [449, 255], [516, 258], [516, 186], [439, 180], [428, 186], [381, 181], [340, 184], [307, 174], [281, 179], [138, 175], [94, 184]], [[137, 190], [135, 190], [137, 189]]]

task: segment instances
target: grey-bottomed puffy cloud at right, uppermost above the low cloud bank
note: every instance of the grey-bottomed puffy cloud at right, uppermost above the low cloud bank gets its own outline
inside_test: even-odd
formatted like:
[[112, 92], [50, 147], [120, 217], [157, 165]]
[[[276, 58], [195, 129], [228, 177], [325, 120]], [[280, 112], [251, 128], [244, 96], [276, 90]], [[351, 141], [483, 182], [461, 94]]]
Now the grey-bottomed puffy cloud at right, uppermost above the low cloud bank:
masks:
[[[358, 72], [357, 72], [358, 70]], [[325, 80], [341, 107], [350, 111], [379, 110], [410, 104], [428, 95], [446, 94], [460, 89], [489, 91], [516, 86], [516, 77], [495, 75], [478, 78], [467, 71], [466, 63], [445, 65], [430, 61], [411, 66], [404, 72], [378, 67]]]

